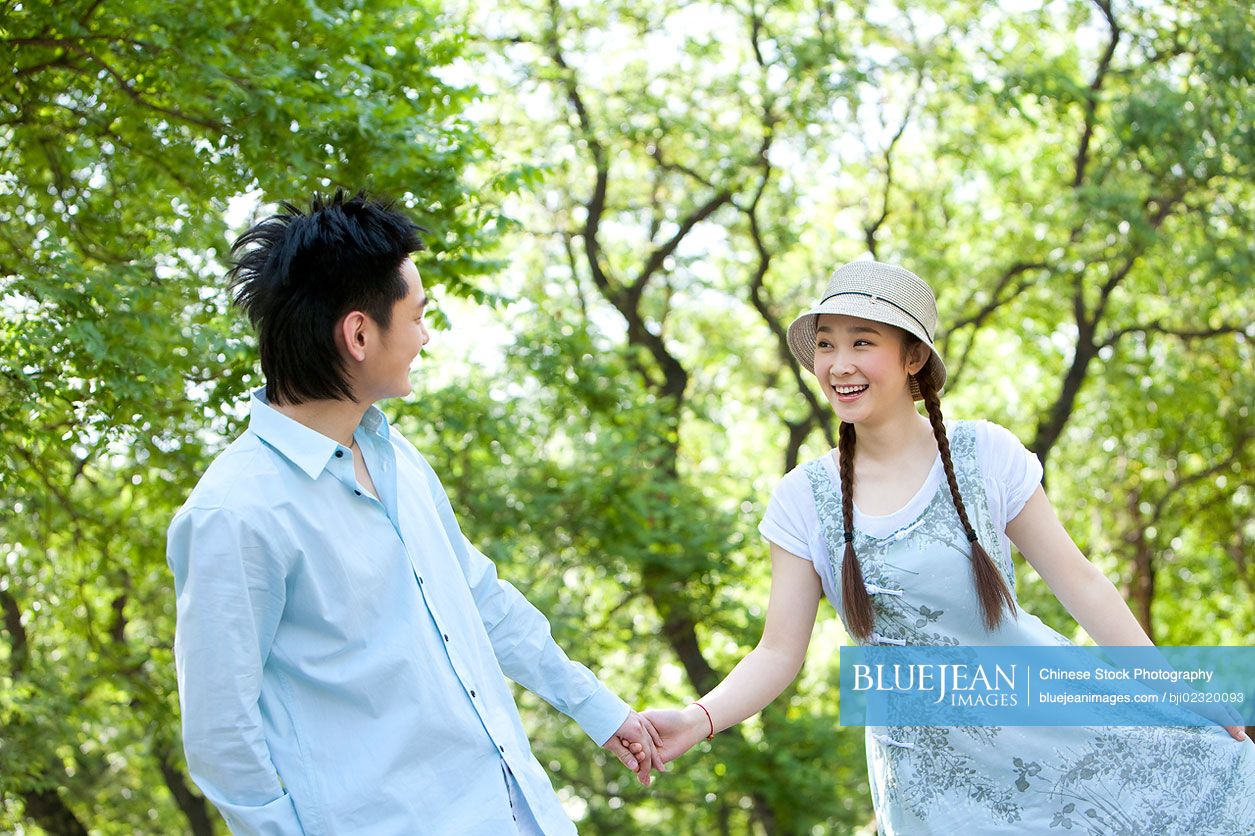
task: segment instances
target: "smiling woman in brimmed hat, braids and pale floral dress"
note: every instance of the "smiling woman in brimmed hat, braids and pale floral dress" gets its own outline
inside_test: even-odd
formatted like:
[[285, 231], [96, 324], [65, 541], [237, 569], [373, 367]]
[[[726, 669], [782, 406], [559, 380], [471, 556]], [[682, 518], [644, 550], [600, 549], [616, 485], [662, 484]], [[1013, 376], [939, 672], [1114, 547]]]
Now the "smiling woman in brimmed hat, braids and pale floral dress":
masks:
[[[936, 323], [924, 281], [861, 261], [789, 326], [793, 355], [841, 419], [838, 449], [772, 496], [758, 645], [697, 703], [645, 713], [664, 759], [788, 687], [823, 594], [860, 644], [1069, 644], [1017, 604], [1012, 542], [1098, 644], [1151, 644], [1059, 523], [1037, 458], [996, 424], [943, 422]], [[1226, 731], [870, 727], [872, 802], [887, 835], [1255, 832], [1255, 747]]]

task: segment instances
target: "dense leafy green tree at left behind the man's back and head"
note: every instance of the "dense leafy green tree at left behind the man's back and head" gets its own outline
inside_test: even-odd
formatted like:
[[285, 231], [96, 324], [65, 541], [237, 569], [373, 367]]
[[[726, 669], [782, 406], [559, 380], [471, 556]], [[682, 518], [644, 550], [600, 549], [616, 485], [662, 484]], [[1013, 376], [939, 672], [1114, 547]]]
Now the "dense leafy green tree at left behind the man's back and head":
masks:
[[164, 530], [257, 382], [225, 216], [369, 188], [429, 228], [428, 282], [472, 292], [498, 218], [463, 39], [385, 0], [3, 5], [0, 828], [212, 832]]

